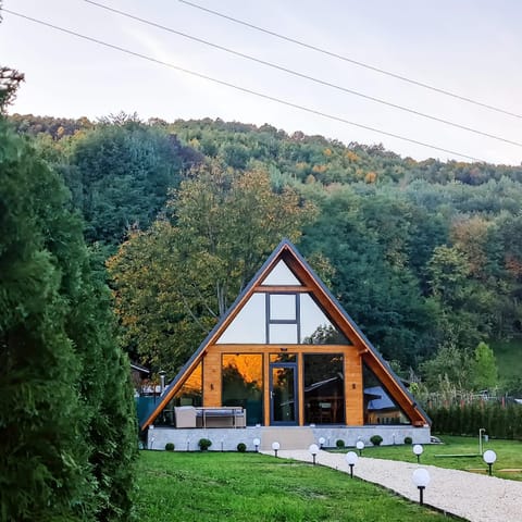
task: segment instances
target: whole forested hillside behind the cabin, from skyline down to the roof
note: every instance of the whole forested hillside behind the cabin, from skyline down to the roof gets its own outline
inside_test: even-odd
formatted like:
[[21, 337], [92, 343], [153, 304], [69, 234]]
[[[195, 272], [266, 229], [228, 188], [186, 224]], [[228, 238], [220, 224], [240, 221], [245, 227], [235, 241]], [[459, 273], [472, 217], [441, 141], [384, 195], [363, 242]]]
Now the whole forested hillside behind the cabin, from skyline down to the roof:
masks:
[[[462, 386], [488, 387], [470, 373], [473, 350], [481, 340], [519, 338], [522, 333], [522, 166], [418, 162], [382, 146], [345, 145], [322, 136], [288, 135], [270, 125], [220, 120], [144, 123], [123, 114], [97, 123], [32, 115], [10, 120], [20, 133], [34, 136], [40, 153], [64, 177], [73, 204], [84, 215], [87, 239], [107, 248], [108, 256], [116, 253], [110, 263], [116, 282], [132, 279], [128, 266], [137, 263], [139, 249], [159, 248], [153, 238], [162, 234], [179, 237], [186, 226], [185, 243], [202, 249], [206, 244], [197, 236], [197, 225], [183, 214], [196, 189], [208, 196], [201, 199], [210, 206], [206, 215], [214, 215], [211, 203], [221, 204], [231, 215], [226, 226], [239, 223], [258, 231], [248, 225], [252, 220], [248, 206], [234, 207], [231, 198], [236, 192], [247, 198], [248, 183], [253, 186], [256, 176], [266, 176], [273, 197], [291, 191], [298, 195], [300, 208], [315, 209], [301, 221], [295, 219], [289, 228], [296, 232], [299, 249], [327, 277], [375, 346], [402, 369], [421, 369], [426, 382], [447, 375]], [[197, 174], [206, 169], [210, 177]], [[241, 173], [256, 176], [240, 182]], [[270, 198], [252, 204], [262, 209]], [[294, 215], [289, 201], [284, 200], [286, 217]], [[156, 221], [159, 215], [162, 219]], [[165, 223], [172, 229], [161, 228]], [[223, 241], [226, 226], [216, 231]], [[223, 287], [232, 297], [251, 275], [245, 266], [270, 253], [261, 250], [277, 244], [281, 237], [275, 236], [283, 229], [268, 226], [266, 234], [274, 237], [263, 243], [259, 257], [245, 261], [240, 271], [231, 269], [231, 274], [240, 273], [234, 284]], [[236, 237], [244, 233], [237, 231]], [[260, 245], [254, 232], [244, 234], [244, 248]], [[125, 258], [129, 252], [132, 259]], [[221, 254], [244, 252], [231, 247]], [[207, 281], [203, 286], [209, 290], [212, 285]], [[201, 333], [183, 336], [176, 328], [183, 323], [187, 332], [185, 312], [163, 308], [157, 315], [164, 314], [162, 324], [169, 323], [170, 330], [158, 326], [154, 339], [147, 340], [141, 319], [136, 318], [150, 306], [140, 301], [138, 310], [138, 299], [133, 299], [127, 308], [120, 302], [121, 313], [128, 314], [123, 323], [130, 332], [130, 351], [156, 369], [178, 368]], [[221, 310], [229, 297], [219, 299]], [[194, 309], [190, 314], [194, 319]], [[210, 313], [198, 321], [211, 325], [216, 316]], [[144, 324], [153, 328], [150, 318]], [[166, 344], [176, 332], [179, 339], [192, 340], [175, 353], [165, 349], [166, 356], [152, 348]], [[504, 384], [522, 388], [520, 380]]]

